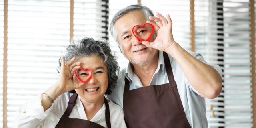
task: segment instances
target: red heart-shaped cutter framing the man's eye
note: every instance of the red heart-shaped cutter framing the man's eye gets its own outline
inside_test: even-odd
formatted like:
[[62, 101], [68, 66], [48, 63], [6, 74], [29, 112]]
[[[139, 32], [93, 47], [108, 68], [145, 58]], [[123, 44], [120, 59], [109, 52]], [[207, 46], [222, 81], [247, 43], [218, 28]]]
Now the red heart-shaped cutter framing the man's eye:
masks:
[[[143, 32], [142, 32], [143, 31]], [[150, 23], [135, 25], [132, 28], [133, 35], [140, 41], [148, 41], [154, 32], [154, 27]]]

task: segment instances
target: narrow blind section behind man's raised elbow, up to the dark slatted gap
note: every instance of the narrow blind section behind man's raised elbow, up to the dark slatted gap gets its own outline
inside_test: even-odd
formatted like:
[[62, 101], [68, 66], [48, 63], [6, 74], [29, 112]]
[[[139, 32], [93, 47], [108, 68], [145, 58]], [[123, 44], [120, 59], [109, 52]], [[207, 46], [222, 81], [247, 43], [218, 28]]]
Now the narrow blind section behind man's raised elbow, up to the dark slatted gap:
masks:
[[[217, 5], [217, 2], [217, 0], [195, 0], [195, 49], [208, 63], [221, 66], [223, 50], [218, 51], [218, 49], [223, 49], [224, 43], [223, 6]], [[222, 1], [219, 2], [222, 3]], [[223, 102], [223, 93], [214, 100], [206, 99], [208, 128], [224, 126], [224, 123], [220, 123], [223, 122]]]

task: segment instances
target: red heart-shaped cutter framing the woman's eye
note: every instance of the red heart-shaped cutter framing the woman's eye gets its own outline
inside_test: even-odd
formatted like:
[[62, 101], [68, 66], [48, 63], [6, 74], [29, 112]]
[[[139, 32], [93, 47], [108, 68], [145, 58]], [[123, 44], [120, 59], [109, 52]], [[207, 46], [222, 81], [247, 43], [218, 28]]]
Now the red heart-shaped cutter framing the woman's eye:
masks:
[[[78, 77], [77, 72], [80, 72], [80, 71], [83, 73], [83, 75], [79, 74], [80, 77]], [[85, 69], [77, 68], [75, 69], [75, 76], [78, 79], [78, 81], [80, 81], [81, 83], [85, 83], [92, 77], [92, 70], [89, 68], [85, 68]]]

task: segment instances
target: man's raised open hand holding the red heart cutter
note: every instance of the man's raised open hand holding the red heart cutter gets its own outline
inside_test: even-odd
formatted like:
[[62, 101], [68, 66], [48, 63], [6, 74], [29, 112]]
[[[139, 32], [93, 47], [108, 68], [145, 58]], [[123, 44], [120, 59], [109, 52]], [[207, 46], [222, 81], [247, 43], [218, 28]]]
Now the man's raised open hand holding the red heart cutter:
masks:
[[151, 23], [154, 26], [154, 31], [157, 33], [156, 39], [153, 42], [143, 41], [142, 44], [146, 45], [146, 47], [167, 52], [172, 44], [176, 43], [172, 35], [172, 20], [169, 14], [166, 16], [167, 19], [158, 12], [156, 16], [158, 17], [150, 16], [149, 19], [155, 21], [157, 24], [147, 21], [147, 23]]

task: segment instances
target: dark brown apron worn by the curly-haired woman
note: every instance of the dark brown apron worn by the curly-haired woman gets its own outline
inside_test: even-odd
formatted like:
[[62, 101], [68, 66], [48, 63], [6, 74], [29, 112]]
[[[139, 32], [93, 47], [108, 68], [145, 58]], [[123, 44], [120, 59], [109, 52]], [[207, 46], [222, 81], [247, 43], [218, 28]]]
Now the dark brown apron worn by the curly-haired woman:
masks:
[[[83, 120], [83, 119], [74, 119], [74, 118], [68, 118], [70, 115], [73, 106], [76, 104], [76, 98], [77, 93], [74, 93], [68, 102], [68, 108], [66, 109], [65, 113], [60, 118], [60, 121], [56, 125], [55, 128], [104, 128], [100, 124], [91, 122], [89, 120]], [[105, 106], [106, 106], [106, 112], [105, 112], [105, 118], [108, 128], [111, 128], [110, 125], [110, 112], [109, 112], [109, 106], [108, 101], [106, 98], [104, 99]]]

